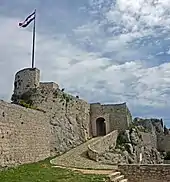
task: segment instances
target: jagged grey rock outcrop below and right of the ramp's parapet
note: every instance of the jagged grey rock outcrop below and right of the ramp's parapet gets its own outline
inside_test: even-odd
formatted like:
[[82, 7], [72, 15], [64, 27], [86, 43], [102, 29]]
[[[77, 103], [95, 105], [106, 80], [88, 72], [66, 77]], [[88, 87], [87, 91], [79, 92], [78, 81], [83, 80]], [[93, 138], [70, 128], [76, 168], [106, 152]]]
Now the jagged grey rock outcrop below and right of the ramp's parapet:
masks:
[[[156, 148], [143, 146], [140, 130], [135, 126], [130, 130], [119, 133], [116, 148], [110, 148], [99, 158], [105, 164], [160, 164], [163, 163], [161, 154]], [[142, 159], [140, 159], [142, 156]]]

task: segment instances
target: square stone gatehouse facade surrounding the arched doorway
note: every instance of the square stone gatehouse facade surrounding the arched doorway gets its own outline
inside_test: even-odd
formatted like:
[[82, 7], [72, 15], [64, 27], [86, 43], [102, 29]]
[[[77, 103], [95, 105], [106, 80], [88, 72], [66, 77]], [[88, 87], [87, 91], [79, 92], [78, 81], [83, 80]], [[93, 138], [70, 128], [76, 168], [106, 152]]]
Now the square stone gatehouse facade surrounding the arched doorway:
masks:
[[110, 105], [101, 105], [100, 103], [91, 104], [90, 120], [93, 136], [97, 136], [96, 120], [99, 117], [105, 120], [106, 134], [113, 130], [128, 129], [129, 124], [132, 122], [132, 116], [126, 103]]

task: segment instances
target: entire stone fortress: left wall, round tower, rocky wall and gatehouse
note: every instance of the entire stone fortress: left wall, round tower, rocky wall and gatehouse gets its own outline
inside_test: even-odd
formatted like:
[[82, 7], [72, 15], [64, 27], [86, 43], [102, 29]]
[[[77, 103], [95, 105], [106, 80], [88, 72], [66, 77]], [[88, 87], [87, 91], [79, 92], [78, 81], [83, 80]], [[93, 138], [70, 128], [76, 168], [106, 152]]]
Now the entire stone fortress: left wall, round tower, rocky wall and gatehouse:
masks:
[[[60, 90], [54, 82], [40, 82], [37, 68], [16, 73], [12, 98], [14, 103], [19, 103], [20, 99], [31, 103], [32, 109], [0, 102], [0, 131], [6, 133], [2, 137], [7, 137], [0, 140], [0, 166], [4, 165], [4, 160], [5, 165], [11, 165], [62, 154], [98, 136], [99, 130], [105, 130], [102, 135], [125, 130], [132, 121], [126, 103], [89, 104]], [[102, 125], [97, 124], [98, 119]]]

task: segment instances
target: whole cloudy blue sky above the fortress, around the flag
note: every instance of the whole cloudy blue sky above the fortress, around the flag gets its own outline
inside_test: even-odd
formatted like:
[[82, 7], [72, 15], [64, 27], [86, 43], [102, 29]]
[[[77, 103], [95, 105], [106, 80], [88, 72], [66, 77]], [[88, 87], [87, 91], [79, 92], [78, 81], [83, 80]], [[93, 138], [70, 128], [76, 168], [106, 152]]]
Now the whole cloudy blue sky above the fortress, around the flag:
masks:
[[42, 81], [89, 102], [127, 102], [132, 115], [170, 127], [168, 0], [1, 0], [0, 97], [9, 100], [16, 71], [31, 66], [37, 9], [36, 67]]

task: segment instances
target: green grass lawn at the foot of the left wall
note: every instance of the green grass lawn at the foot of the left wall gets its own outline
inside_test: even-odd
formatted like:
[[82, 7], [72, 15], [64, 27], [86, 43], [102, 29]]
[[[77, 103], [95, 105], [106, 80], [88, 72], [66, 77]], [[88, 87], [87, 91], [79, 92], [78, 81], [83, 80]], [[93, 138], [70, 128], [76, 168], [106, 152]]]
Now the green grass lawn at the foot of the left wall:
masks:
[[104, 177], [52, 168], [49, 159], [0, 172], [0, 182], [103, 182]]

